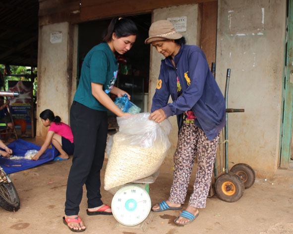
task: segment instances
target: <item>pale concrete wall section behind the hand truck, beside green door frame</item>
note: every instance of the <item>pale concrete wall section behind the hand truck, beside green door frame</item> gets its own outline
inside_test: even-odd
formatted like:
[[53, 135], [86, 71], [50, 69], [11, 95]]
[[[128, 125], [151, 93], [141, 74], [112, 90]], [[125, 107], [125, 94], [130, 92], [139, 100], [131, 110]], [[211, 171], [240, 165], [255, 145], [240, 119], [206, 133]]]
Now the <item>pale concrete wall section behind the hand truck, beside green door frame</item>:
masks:
[[229, 165], [247, 163], [258, 174], [278, 166], [286, 22], [285, 0], [219, 0], [216, 80], [228, 108]]

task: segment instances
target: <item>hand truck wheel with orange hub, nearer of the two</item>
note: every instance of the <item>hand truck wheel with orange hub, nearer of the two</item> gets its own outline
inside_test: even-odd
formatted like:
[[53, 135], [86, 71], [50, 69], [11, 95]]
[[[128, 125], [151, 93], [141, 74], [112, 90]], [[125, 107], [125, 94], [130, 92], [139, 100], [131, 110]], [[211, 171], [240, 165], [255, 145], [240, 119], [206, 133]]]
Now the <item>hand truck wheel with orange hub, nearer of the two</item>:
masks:
[[225, 173], [216, 179], [215, 192], [223, 201], [235, 202], [239, 200], [244, 190], [242, 179], [234, 173]]

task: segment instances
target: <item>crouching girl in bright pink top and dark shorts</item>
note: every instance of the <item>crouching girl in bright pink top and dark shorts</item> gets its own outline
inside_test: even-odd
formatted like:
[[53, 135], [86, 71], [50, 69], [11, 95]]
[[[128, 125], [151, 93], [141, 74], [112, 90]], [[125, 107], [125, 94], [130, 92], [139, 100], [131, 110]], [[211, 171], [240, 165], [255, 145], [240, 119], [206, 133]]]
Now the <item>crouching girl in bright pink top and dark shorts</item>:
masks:
[[61, 122], [59, 116], [47, 109], [40, 114], [41, 121], [45, 127], [49, 127], [44, 144], [32, 160], [38, 160], [52, 143], [59, 151], [60, 155], [54, 161], [67, 160], [68, 155], [73, 155], [74, 143], [73, 135], [69, 125]]

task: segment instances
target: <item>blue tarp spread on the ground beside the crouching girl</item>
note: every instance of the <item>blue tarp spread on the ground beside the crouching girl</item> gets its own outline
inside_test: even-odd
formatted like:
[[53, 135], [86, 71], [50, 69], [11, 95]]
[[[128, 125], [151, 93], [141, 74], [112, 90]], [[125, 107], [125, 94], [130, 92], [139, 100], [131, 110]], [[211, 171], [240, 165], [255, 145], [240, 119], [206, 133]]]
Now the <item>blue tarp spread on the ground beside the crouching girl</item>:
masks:
[[[28, 150], [41, 149], [40, 146], [31, 142], [27, 142], [22, 139], [12, 141], [11, 143], [7, 145], [7, 147], [9, 147], [13, 151], [12, 153], [13, 156], [21, 156], [21, 157], [24, 157], [25, 153]], [[23, 171], [23, 170], [37, 167], [39, 165], [47, 163], [53, 160], [58, 154], [59, 154], [58, 150], [54, 146], [52, 146], [52, 149], [47, 149], [45, 153], [37, 161], [28, 160], [25, 158], [16, 160], [16, 159], [9, 159], [9, 158], [4, 158], [0, 156], [0, 165], [4, 169], [6, 174], [11, 174], [11, 173]], [[21, 166], [13, 166], [13, 165], [21, 165]]]

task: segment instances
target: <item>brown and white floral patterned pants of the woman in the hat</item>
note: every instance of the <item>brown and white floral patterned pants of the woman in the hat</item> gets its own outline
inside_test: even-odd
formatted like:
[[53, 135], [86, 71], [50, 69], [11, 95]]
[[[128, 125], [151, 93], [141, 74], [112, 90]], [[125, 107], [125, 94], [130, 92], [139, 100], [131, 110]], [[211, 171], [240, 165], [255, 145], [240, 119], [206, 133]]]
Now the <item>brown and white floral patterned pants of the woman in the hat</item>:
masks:
[[188, 205], [196, 208], [205, 207], [211, 185], [219, 138], [220, 133], [214, 140], [209, 141], [203, 130], [194, 123], [183, 123], [174, 155], [175, 170], [169, 201], [176, 204], [184, 203], [197, 153], [196, 179]]

